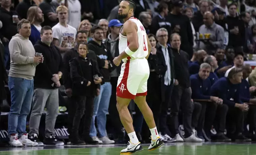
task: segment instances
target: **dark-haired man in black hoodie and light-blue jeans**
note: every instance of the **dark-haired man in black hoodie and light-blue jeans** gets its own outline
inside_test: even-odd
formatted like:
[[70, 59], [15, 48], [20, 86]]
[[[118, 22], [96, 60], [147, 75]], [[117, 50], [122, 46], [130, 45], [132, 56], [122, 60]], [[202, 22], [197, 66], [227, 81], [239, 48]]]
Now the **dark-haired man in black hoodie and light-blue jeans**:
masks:
[[[103, 45], [103, 29], [100, 26], [93, 26], [91, 28], [91, 33], [93, 40], [89, 41], [88, 48], [95, 51], [97, 55], [97, 62], [99, 65], [99, 70], [105, 79], [105, 83], [101, 85], [101, 93], [94, 99], [94, 112], [93, 119], [91, 121], [91, 131], [90, 136], [93, 140], [99, 143], [112, 144], [114, 140], [110, 140], [107, 137], [106, 131], [106, 114], [109, 111], [109, 100], [112, 93], [112, 86], [110, 83], [110, 73], [114, 66], [112, 64], [112, 55]], [[97, 126], [99, 130], [99, 137], [97, 137], [97, 130], [95, 127], [95, 117], [97, 116]]]

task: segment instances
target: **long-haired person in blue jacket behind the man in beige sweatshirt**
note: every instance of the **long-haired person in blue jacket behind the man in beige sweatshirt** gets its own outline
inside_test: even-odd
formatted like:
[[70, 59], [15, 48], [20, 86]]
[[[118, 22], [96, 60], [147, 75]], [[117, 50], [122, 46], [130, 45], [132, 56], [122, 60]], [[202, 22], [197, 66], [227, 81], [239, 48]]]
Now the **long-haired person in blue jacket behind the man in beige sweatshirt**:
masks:
[[32, 6], [27, 11], [27, 20], [31, 24], [29, 40], [33, 45], [35, 45], [38, 40], [41, 40], [40, 31], [42, 28], [41, 23], [44, 22], [44, 14], [38, 6]]

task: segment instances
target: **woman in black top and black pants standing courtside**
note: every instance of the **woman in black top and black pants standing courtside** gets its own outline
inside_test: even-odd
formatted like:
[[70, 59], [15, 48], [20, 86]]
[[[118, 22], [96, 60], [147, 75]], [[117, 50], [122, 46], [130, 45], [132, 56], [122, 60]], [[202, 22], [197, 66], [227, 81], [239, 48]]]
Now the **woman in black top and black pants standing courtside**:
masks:
[[[79, 57], [70, 60], [70, 77], [72, 80], [72, 96], [75, 98], [76, 113], [74, 116], [71, 134], [71, 142], [76, 145], [85, 144], [78, 135], [79, 125], [85, 114], [83, 139], [89, 136], [91, 118], [93, 115], [93, 99], [100, 93], [100, 83], [103, 78], [97, 67], [97, 62], [86, 57], [88, 48], [86, 43], [78, 45]], [[85, 112], [86, 110], [86, 112]], [[86, 135], [88, 134], [88, 135]]]

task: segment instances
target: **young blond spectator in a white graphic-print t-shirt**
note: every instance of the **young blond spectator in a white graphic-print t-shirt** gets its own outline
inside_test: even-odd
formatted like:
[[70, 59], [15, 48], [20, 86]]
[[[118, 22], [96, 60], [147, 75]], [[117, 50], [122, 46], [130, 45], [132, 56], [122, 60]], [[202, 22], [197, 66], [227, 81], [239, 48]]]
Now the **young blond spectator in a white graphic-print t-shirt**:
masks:
[[53, 41], [52, 43], [60, 48], [62, 53], [75, 45], [76, 28], [68, 25], [68, 8], [66, 6], [58, 6], [56, 9], [59, 23], [52, 27]]

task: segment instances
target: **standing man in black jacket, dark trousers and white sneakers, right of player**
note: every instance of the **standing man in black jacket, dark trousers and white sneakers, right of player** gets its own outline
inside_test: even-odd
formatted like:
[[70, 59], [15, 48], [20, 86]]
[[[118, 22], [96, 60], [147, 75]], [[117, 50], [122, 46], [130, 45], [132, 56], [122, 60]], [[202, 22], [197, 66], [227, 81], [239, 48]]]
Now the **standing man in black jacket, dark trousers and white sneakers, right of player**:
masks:
[[[191, 101], [191, 88], [190, 88], [190, 75], [188, 72], [188, 54], [180, 50], [180, 35], [174, 33], [171, 35], [171, 50], [173, 51], [174, 69], [175, 69], [175, 86], [171, 96], [171, 122], [173, 123], [173, 135], [177, 142], [203, 142], [204, 140], [197, 138], [192, 133], [191, 120], [192, 120], [192, 101]], [[181, 138], [178, 127], [178, 113], [182, 108], [183, 126], [184, 126], [184, 140]]]

